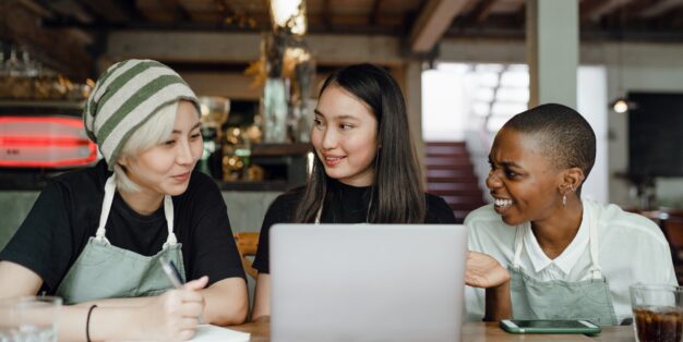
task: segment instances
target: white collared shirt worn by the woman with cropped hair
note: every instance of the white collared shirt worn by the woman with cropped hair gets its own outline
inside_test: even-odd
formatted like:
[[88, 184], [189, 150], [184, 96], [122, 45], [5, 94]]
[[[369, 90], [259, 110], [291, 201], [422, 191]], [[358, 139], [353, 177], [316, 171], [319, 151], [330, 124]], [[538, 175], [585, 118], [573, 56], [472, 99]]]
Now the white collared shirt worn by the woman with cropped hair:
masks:
[[[596, 216], [602, 274], [610, 284], [616, 318], [631, 317], [628, 286], [636, 282], [678, 284], [669, 243], [649, 219], [625, 212], [615, 205], [583, 199], [584, 210]], [[586, 213], [586, 212], [585, 212]], [[586, 215], [584, 215], [586, 217]], [[494, 257], [503, 267], [512, 265], [515, 228], [503, 222], [493, 205], [470, 212], [465, 219], [469, 229], [469, 248]], [[539, 280], [580, 281], [591, 266], [588, 248], [588, 223], [582, 222], [572, 243], [554, 260], [542, 252], [529, 224], [524, 232], [520, 267]], [[481, 320], [484, 291], [466, 286], [467, 318]]]

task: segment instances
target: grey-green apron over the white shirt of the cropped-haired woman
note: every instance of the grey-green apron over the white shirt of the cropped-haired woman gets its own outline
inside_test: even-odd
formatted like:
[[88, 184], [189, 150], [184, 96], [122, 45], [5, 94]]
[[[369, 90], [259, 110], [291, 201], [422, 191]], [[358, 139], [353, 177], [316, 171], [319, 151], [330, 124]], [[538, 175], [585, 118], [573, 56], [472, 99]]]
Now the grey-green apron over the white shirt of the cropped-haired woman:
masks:
[[[618, 325], [607, 278], [598, 262], [598, 222], [589, 210], [591, 267], [580, 281], [541, 281], [525, 273], [519, 267], [524, 247], [524, 225], [515, 233], [515, 257], [508, 266], [511, 297], [515, 319], [588, 319], [600, 326]], [[588, 216], [588, 218], [586, 218]], [[530, 223], [526, 223], [530, 229]]]

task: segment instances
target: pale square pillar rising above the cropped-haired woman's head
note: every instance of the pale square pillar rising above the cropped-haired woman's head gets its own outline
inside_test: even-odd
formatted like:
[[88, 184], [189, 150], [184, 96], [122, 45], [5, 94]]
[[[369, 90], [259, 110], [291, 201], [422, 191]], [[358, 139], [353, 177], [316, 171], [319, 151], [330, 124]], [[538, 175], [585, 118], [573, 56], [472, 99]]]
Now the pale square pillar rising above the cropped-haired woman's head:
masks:
[[576, 108], [578, 0], [527, 0], [526, 8], [529, 107]]

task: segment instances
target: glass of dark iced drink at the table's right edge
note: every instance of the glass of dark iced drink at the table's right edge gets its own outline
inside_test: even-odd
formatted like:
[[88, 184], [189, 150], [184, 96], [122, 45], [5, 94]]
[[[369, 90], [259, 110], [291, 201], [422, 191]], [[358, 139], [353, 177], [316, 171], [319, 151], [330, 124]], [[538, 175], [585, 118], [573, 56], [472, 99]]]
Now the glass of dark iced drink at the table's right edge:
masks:
[[631, 306], [634, 330], [639, 342], [683, 341], [683, 288], [632, 285]]

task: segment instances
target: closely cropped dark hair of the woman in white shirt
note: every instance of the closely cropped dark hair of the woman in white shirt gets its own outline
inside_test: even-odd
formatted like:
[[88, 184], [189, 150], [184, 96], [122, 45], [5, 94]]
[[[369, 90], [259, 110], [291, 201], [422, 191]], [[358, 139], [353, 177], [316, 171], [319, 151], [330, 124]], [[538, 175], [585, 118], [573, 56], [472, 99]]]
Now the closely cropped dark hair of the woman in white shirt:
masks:
[[588, 178], [596, 162], [596, 134], [588, 121], [570, 107], [541, 105], [516, 114], [503, 127], [537, 136], [541, 154], [560, 170], [579, 168]]

